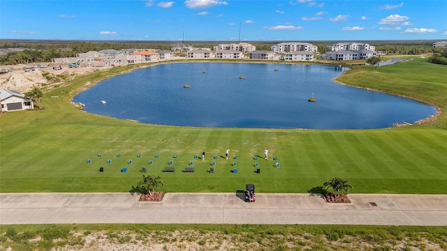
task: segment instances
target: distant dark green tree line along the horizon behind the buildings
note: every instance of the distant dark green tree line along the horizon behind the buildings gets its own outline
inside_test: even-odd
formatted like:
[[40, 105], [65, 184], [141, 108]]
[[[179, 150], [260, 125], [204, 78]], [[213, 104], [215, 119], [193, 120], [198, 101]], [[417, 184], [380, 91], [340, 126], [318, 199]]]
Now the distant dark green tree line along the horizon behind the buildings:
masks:
[[[189, 46], [213, 48], [221, 43], [237, 43], [235, 41], [226, 42], [163, 42], [163, 41], [133, 41], [133, 42], [79, 42], [79, 41], [60, 41], [60, 40], [0, 40], [0, 48], [25, 48], [20, 52], [9, 52], [0, 56], [1, 65], [15, 65], [20, 63], [38, 63], [50, 62], [51, 59], [61, 57], [76, 56], [78, 53], [85, 53], [89, 51], [101, 50], [123, 50], [123, 49], [158, 49], [171, 50], [172, 47]], [[272, 45], [277, 42], [250, 42], [256, 46], [256, 50], [270, 50]], [[310, 41], [313, 45], [318, 47], [320, 54], [325, 53], [325, 47], [335, 43], [331, 41]], [[362, 43], [369, 43], [376, 46], [376, 51], [384, 52], [385, 54], [406, 54], [418, 55], [427, 53], [442, 53], [439, 48], [432, 47], [432, 41], [428, 40], [409, 40], [409, 41], [363, 41]], [[440, 59], [436, 58], [435, 61]]]

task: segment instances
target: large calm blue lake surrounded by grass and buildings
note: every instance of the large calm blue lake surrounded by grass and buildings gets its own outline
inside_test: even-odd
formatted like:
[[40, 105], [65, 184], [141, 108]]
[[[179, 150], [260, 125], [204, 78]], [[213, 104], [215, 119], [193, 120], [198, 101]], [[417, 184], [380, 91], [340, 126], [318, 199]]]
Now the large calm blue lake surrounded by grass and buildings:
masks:
[[[118, 119], [219, 128], [388, 128], [436, 113], [420, 102], [332, 82], [344, 70], [316, 65], [169, 63], [106, 79], [73, 102], [85, 104], [87, 112]], [[239, 79], [240, 75], [247, 79]], [[191, 88], [183, 88], [184, 84]], [[312, 93], [317, 102], [307, 101]]]

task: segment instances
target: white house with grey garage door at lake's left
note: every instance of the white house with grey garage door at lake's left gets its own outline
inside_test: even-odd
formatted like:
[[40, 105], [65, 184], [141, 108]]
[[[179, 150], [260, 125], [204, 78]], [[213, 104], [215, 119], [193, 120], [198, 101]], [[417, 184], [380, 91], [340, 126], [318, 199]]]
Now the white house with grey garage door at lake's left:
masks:
[[24, 94], [18, 91], [1, 89], [0, 102], [2, 112], [34, 109], [33, 100], [31, 98], [26, 98]]

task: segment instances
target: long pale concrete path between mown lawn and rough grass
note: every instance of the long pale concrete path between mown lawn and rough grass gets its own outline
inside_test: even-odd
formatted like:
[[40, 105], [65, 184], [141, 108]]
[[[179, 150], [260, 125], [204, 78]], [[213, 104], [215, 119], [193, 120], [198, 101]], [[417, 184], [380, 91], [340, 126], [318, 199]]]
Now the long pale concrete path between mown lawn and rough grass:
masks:
[[[321, 195], [168, 193], [139, 202], [129, 193], [0, 194], [0, 224], [205, 223], [447, 226], [447, 195], [351, 194], [351, 204]], [[374, 202], [373, 206], [370, 202]]]

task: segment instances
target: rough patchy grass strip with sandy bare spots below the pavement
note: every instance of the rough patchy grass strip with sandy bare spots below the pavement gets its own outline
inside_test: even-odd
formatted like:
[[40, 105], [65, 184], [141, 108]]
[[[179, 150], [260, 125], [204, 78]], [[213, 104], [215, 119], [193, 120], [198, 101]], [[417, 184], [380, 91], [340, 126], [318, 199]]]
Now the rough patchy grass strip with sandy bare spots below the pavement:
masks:
[[6, 250], [445, 250], [445, 227], [0, 225]]

